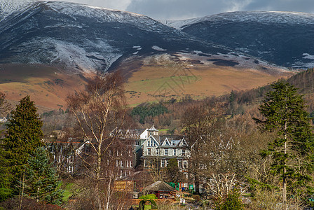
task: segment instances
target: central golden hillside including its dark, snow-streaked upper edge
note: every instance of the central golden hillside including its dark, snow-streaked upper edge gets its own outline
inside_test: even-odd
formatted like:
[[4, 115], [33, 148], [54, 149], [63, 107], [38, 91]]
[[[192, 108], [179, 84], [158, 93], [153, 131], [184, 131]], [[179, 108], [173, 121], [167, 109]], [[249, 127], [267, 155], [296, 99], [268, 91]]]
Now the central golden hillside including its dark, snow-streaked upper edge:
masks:
[[294, 71], [248, 58], [184, 54], [154, 55], [128, 59], [119, 65], [127, 77], [128, 104], [168, 101], [191, 97], [203, 99], [228, 94], [231, 90], [250, 90], [294, 75]]

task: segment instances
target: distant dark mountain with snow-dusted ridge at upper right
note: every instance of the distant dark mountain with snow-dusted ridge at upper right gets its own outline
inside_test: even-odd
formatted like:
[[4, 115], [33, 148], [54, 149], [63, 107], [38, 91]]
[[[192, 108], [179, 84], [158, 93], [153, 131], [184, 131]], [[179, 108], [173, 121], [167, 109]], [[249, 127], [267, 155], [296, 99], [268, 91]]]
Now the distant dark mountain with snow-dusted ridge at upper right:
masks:
[[282, 66], [314, 66], [314, 14], [233, 12], [166, 25]]

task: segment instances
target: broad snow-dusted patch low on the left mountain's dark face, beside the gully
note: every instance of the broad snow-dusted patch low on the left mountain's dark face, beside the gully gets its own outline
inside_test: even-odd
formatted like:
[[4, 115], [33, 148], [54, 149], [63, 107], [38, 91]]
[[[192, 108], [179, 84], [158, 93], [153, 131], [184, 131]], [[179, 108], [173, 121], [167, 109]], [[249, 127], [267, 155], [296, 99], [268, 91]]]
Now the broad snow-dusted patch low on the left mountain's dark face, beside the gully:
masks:
[[41, 45], [43, 49], [53, 49], [49, 53], [46, 53], [44, 59], [50, 59], [51, 62], [57, 64], [66, 64], [71, 69], [81, 69], [83, 71], [95, 71], [96, 69], [107, 71], [111, 64], [113, 64], [122, 53], [114, 49], [108, 43], [103, 41], [86, 41], [84, 43], [90, 48], [86, 48], [84, 45], [78, 45], [67, 41], [60, 41], [54, 38], [33, 38], [27, 43], [23, 43], [20, 48], [36, 48], [28, 54], [28, 62], [40, 63], [43, 55], [41, 48], [37, 48], [36, 45]]

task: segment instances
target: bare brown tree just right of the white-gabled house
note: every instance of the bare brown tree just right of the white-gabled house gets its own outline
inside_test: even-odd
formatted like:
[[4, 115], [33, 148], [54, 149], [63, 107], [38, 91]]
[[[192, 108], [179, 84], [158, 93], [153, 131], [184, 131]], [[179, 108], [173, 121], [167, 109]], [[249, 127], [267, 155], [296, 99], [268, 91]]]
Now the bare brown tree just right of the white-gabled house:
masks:
[[[182, 116], [182, 127], [186, 134], [186, 141], [191, 151], [189, 158], [189, 173], [193, 177], [196, 193], [200, 193], [200, 182], [207, 173], [208, 158], [212, 156], [212, 147], [219, 132], [219, 126], [224, 122], [221, 118], [221, 107], [216, 102], [208, 101], [186, 109]], [[214, 158], [217, 158], [216, 156]]]

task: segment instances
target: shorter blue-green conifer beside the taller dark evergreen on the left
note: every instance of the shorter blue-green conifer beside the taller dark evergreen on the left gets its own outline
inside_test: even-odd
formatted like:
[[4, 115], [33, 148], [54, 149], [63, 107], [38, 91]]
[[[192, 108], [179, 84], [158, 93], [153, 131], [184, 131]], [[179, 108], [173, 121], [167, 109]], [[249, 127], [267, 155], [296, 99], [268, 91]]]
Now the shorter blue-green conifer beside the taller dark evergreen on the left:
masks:
[[48, 153], [43, 147], [36, 149], [27, 161], [25, 174], [25, 192], [35, 197], [37, 202], [61, 204], [61, 181], [57, 180], [57, 172], [49, 163]]

